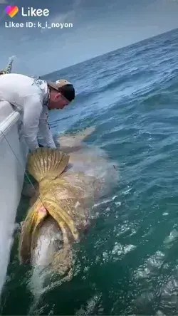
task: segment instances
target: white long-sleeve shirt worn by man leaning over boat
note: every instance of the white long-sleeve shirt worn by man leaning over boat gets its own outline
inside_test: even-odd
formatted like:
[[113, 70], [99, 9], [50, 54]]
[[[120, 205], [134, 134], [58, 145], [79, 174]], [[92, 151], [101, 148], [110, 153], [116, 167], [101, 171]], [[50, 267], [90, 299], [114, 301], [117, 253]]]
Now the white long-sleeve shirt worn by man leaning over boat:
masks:
[[45, 147], [56, 148], [48, 127], [48, 85], [26, 75], [0, 75], [0, 102], [6, 100], [21, 112], [22, 133], [28, 148], [38, 148], [38, 135]]

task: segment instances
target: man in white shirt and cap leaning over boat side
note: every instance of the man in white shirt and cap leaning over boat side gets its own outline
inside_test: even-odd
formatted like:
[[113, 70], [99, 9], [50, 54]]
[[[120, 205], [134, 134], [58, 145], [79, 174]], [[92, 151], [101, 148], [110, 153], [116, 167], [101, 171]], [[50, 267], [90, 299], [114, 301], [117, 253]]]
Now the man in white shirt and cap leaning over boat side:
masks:
[[17, 73], [0, 75], [0, 102], [8, 101], [21, 113], [23, 137], [31, 151], [39, 146], [56, 148], [48, 126], [48, 110], [62, 110], [74, 99], [75, 89], [67, 80], [53, 83]]

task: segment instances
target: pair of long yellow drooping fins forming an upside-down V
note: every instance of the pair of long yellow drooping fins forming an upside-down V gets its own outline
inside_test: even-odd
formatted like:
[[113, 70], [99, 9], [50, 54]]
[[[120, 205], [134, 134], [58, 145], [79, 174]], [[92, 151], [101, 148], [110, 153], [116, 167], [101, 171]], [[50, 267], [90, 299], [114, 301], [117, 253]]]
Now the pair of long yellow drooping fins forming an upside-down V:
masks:
[[[62, 266], [63, 261], [68, 261], [70, 244], [73, 239], [75, 240], [75, 238], [78, 237], [77, 231], [75, 231], [75, 226], [73, 226], [74, 222], [64, 210], [61, 210], [58, 207], [57, 204], [52, 204], [52, 201], [49, 200], [48, 203], [46, 203], [46, 201], [42, 203], [42, 201], [38, 199], [30, 211], [28, 211], [21, 228], [19, 240], [20, 263], [31, 264], [32, 253], [36, 248], [36, 241], [38, 240], [41, 227], [49, 217], [53, 218], [56, 222], [56, 226], [62, 236], [60, 249], [58, 249], [59, 251], [56, 251], [52, 265]], [[68, 226], [65, 225], [66, 223], [68, 223]]]

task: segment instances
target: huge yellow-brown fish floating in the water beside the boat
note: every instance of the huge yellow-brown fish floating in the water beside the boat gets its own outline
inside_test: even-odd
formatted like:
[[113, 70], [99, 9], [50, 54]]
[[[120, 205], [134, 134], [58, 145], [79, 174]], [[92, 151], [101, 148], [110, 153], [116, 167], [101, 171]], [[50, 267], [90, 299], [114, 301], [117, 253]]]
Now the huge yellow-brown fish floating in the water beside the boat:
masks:
[[73, 243], [88, 230], [92, 206], [117, 180], [105, 152], [83, 143], [91, 132], [64, 135], [60, 149], [39, 148], [28, 155], [28, 172], [38, 186], [21, 229], [21, 263], [70, 273]]

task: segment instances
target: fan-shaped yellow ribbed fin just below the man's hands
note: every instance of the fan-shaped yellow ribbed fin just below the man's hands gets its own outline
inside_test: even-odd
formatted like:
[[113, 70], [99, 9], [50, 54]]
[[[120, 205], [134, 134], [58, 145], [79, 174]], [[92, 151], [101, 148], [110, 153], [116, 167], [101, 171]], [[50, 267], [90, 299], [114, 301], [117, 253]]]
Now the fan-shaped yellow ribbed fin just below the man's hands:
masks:
[[27, 169], [36, 181], [56, 179], [68, 165], [70, 156], [54, 148], [41, 147], [28, 155]]

